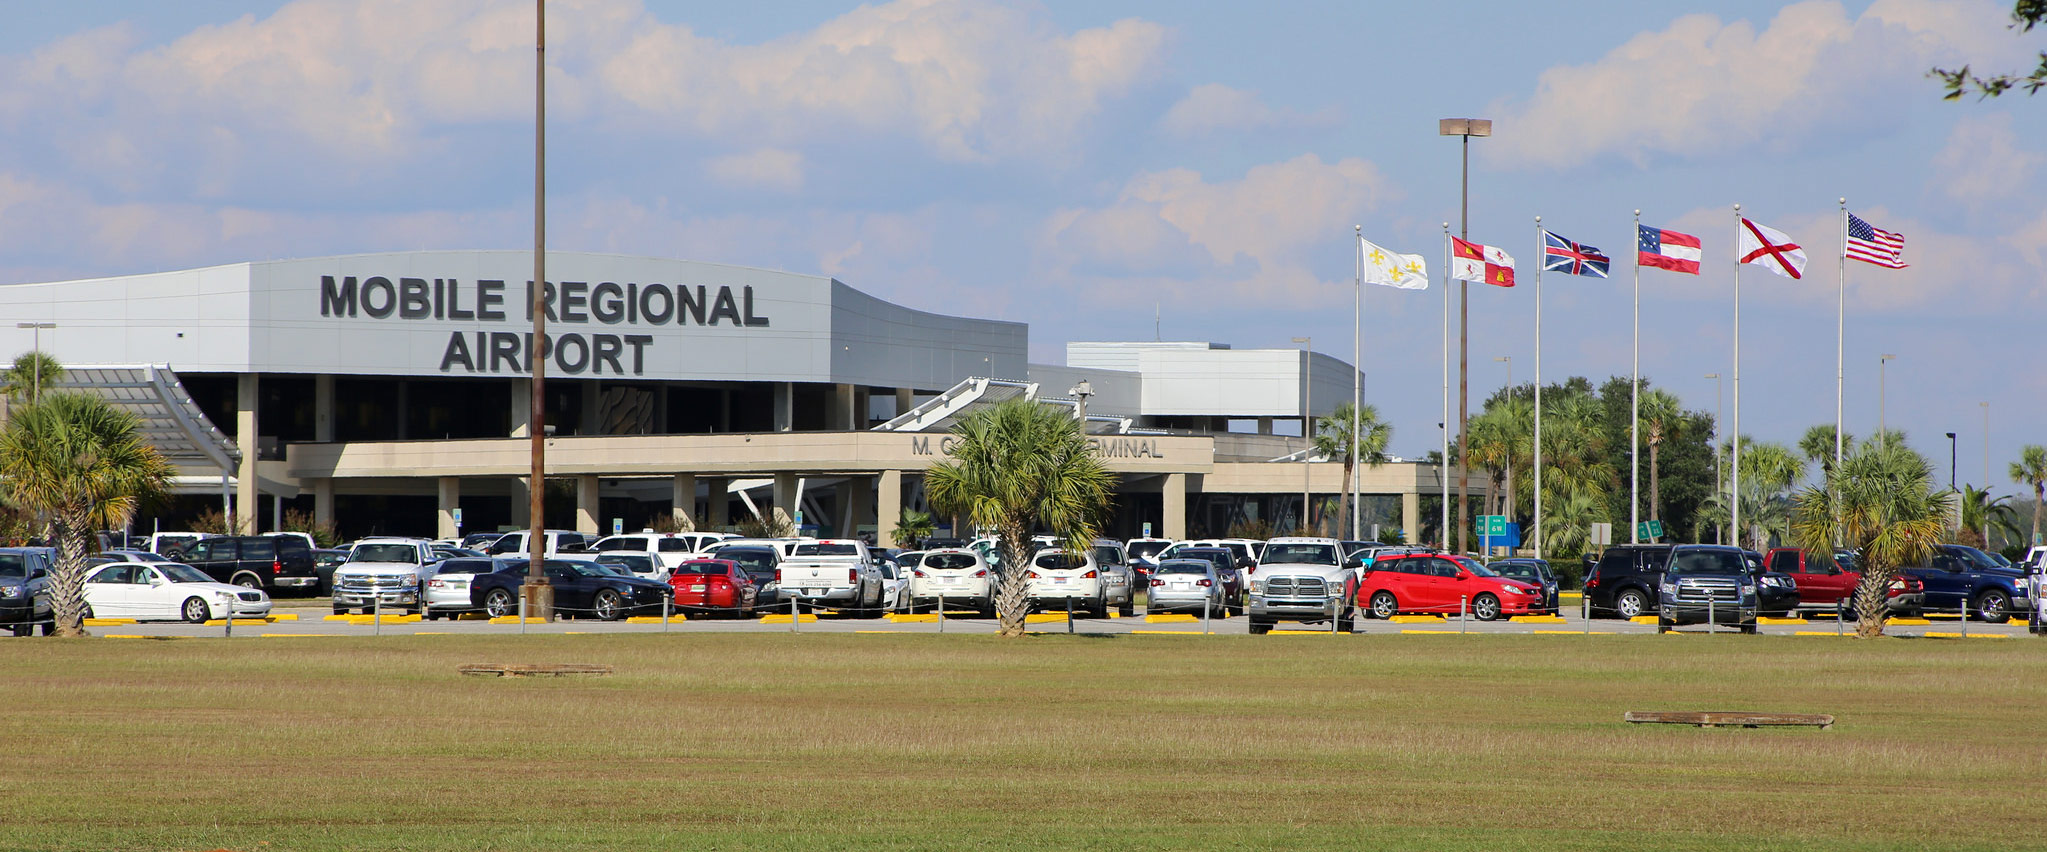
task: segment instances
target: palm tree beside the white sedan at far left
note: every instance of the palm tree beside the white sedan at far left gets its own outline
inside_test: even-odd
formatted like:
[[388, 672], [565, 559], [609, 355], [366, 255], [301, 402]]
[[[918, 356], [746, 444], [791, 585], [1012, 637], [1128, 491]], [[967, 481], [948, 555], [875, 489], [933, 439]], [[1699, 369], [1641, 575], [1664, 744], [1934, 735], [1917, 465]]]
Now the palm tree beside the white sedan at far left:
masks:
[[143, 440], [135, 416], [104, 399], [47, 393], [8, 418], [0, 479], [14, 504], [51, 518], [57, 569], [49, 586], [59, 635], [86, 635], [92, 530], [127, 524], [139, 498], [162, 492], [170, 475], [170, 461]]

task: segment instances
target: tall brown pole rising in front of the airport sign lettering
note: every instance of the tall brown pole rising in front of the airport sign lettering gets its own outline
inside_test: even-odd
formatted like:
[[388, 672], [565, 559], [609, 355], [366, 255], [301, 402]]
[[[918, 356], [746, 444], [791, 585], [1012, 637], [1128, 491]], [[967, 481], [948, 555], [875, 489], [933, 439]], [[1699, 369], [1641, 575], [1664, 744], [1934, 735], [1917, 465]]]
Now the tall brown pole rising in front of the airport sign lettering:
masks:
[[547, 559], [547, 0], [534, 0], [532, 31], [532, 346], [526, 369], [532, 375], [528, 438], [532, 440], [530, 487], [526, 492], [526, 616], [555, 621], [555, 586], [540, 563]]

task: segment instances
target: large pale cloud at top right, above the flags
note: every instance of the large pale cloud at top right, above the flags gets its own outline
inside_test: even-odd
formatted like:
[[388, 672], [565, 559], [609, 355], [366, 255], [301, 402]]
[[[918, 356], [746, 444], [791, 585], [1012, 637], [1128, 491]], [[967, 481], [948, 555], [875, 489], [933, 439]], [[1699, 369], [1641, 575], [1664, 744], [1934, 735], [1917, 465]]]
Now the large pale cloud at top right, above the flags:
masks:
[[1904, 121], [1900, 98], [1934, 102], [1939, 63], [2024, 61], [2008, 6], [1990, 0], [1877, 0], [1848, 18], [1840, 2], [1785, 6], [1760, 33], [1748, 20], [1687, 14], [1586, 66], [1541, 74], [1523, 102], [1494, 104], [1486, 156], [1513, 166], [1578, 166], [1605, 156], [1713, 156], [1840, 141]]

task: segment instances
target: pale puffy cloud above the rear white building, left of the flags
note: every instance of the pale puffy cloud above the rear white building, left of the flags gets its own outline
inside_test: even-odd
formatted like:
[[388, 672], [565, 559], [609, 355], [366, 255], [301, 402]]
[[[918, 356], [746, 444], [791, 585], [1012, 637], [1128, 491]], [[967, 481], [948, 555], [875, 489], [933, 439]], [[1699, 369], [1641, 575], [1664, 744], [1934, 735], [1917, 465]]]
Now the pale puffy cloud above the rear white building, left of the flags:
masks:
[[1144, 172], [1105, 207], [1054, 213], [1042, 250], [1062, 274], [1112, 266], [1136, 283], [1308, 293], [1318, 285], [1310, 250], [1347, 238], [1349, 223], [1396, 195], [1378, 166], [1314, 154], [1222, 182], [1185, 168]]

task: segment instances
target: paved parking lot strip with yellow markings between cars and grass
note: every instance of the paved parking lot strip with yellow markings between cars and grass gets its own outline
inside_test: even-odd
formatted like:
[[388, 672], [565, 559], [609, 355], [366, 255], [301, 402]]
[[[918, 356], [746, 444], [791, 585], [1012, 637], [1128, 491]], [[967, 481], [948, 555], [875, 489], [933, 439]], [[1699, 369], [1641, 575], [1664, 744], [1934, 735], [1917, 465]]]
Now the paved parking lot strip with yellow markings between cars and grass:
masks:
[[[1566, 598], [1562, 616], [1517, 616], [1500, 621], [1478, 621], [1451, 616], [1394, 616], [1390, 621], [1359, 619], [1353, 625], [1353, 635], [1492, 635], [1492, 633], [1533, 633], [1533, 635], [1654, 635], [1656, 621], [1619, 621], [1619, 619], [1582, 619], [1574, 608], [1576, 600]], [[1222, 619], [1214, 616], [1206, 623], [1200, 614], [1138, 614], [1132, 619], [1087, 619], [1075, 614], [1069, 623], [1064, 612], [1036, 612], [1030, 616], [1030, 629], [1040, 633], [1136, 633], [1136, 635], [1245, 635], [1249, 633], [1249, 619]], [[223, 637], [229, 635], [229, 625], [219, 621], [207, 625], [190, 623], [123, 623], [115, 619], [94, 619], [88, 629], [98, 637], [139, 637], [139, 639], [160, 639], [160, 637]], [[594, 621], [594, 619], [557, 619], [553, 623], [528, 621], [518, 623], [512, 619], [483, 619], [481, 614], [469, 614], [456, 621], [422, 621], [418, 616], [389, 614], [377, 616], [336, 616], [325, 598], [280, 598], [276, 610], [266, 621], [237, 619], [231, 635], [235, 639], [248, 637], [360, 637], [360, 635], [518, 635], [518, 633], [995, 633], [995, 619], [981, 619], [968, 612], [954, 612], [940, 619], [938, 614], [886, 614], [880, 619], [856, 619], [835, 612], [823, 614], [802, 614], [800, 621], [790, 623], [788, 614], [766, 614], [753, 619], [716, 619], [716, 616], [682, 616], [676, 614], [663, 623], [659, 614], [655, 616], [633, 616], [626, 621]], [[1322, 625], [1294, 625], [1281, 623], [1273, 629], [1273, 635], [1329, 635], [1331, 627]], [[1707, 635], [1705, 627], [1681, 627], [1672, 635]], [[1717, 635], [1728, 635], [1728, 641], [1738, 641], [1732, 627], [1719, 627], [1711, 631]], [[1785, 635], [1785, 637], [1853, 637], [1855, 623], [1840, 623], [1830, 616], [1791, 621], [1791, 619], [1765, 619], [1760, 625], [1762, 635]], [[1981, 621], [1969, 621], [1947, 616], [1928, 619], [1891, 619], [1885, 627], [1885, 635], [1891, 637], [1928, 637], [1928, 639], [2027, 639], [2027, 625], [2022, 621], [2010, 621], [2004, 625], [1988, 625]]]

